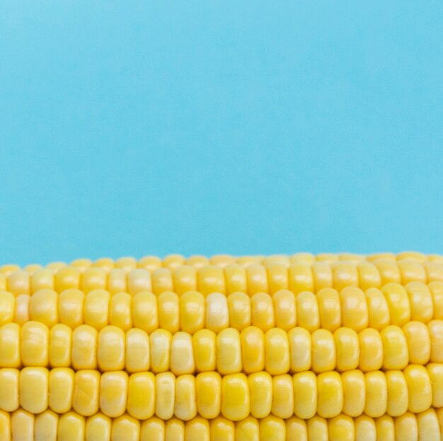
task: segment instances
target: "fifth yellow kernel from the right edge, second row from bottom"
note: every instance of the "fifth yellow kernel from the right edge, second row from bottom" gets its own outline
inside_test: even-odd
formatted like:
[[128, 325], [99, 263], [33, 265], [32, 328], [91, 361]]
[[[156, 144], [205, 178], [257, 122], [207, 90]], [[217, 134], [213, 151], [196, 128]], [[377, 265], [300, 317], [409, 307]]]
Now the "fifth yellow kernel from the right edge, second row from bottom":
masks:
[[366, 403], [366, 386], [364, 374], [360, 370], [343, 372], [343, 413], [357, 417], [364, 411]]

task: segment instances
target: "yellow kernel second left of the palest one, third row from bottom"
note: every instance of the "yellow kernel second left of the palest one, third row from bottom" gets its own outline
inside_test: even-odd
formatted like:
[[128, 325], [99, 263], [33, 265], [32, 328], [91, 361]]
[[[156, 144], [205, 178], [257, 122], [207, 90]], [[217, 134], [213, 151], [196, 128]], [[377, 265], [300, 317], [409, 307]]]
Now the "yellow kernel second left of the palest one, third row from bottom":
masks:
[[149, 336], [142, 329], [126, 333], [125, 367], [130, 374], [149, 370]]

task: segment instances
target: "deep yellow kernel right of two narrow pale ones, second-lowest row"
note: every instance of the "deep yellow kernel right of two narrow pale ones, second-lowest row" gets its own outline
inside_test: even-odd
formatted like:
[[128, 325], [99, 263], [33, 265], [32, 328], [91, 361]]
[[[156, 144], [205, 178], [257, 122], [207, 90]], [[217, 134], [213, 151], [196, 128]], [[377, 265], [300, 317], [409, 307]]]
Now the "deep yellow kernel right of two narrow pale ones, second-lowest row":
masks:
[[197, 412], [203, 418], [219, 416], [222, 399], [222, 378], [217, 372], [202, 372], [195, 377]]

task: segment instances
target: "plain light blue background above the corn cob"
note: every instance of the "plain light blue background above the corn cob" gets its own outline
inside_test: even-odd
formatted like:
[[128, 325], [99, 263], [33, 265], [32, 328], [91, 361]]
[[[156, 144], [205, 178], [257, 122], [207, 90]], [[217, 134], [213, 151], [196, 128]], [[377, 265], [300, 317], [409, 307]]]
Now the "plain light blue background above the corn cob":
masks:
[[0, 263], [443, 252], [443, 3], [5, 1]]

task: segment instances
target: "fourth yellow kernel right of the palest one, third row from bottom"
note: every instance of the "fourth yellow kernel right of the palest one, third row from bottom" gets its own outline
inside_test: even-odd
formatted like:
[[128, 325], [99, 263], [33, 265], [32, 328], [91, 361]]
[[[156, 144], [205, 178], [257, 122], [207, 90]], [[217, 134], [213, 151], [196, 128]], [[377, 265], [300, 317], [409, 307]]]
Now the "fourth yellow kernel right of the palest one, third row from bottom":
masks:
[[289, 338], [279, 328], [265, 333], [265, 370], [271, 375], [286, 374], [291, 367]]

